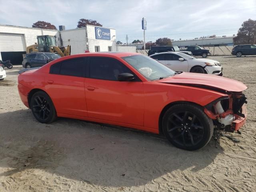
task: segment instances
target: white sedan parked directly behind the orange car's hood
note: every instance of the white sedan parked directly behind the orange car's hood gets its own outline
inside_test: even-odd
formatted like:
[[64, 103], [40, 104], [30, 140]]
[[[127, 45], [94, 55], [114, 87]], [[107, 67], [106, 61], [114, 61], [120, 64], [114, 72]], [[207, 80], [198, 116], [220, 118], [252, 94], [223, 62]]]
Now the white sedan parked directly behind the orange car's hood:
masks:
[[198, 59], [181, 52], [156, 53], [150, 57], [174, 71], [222, 76], [222, 66], [215, 60]]

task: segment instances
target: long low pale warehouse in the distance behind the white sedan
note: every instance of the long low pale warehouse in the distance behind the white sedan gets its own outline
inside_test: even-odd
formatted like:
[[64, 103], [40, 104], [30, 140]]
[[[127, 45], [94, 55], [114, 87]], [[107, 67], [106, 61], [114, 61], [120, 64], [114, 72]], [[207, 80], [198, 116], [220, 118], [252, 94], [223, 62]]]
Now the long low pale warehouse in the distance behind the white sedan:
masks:
[[202, 38], [202, 39], [191, 39], [191, 40], [176, 40], [172, 41], [173, 45], [177, 46], [190, 46], [190, 45], [197, 45], [197, 46], [232, 46], [234, 36], [229, 37], [216, 37], [216, 38]]

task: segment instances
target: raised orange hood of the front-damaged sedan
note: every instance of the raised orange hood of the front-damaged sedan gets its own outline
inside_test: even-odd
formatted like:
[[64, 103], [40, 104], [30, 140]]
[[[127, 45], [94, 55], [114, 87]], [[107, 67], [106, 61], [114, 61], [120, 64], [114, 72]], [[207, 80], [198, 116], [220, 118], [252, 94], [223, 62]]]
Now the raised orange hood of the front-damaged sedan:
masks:
[[157, 81], [160, 83], [206, 88], [218, 92], [242, 92], [247, 89], [242, 82], [216, 75], [199, 73], [182, 72], [181, 74]]

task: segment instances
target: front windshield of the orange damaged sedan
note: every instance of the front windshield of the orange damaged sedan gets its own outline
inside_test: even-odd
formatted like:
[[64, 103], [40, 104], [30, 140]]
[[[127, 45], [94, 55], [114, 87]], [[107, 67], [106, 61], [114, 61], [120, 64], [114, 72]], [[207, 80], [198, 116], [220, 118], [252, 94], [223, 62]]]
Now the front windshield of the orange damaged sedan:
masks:
[[132, 55], [122, 57], [147, 80], [153, 81], [173, 76], [175, 72], [158, 61], [145, 55]]

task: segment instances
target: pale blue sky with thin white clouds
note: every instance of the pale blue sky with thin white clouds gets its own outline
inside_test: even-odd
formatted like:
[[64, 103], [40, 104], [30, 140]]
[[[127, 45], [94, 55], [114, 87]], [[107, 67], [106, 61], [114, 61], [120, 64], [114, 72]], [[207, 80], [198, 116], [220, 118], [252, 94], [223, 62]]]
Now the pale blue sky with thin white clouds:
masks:
[[236, 34], [242, 22], [256, 20], [256, 0], [0, 0], [0, 24], [32, 27], [43, 20], [76, 28], [80, 18], [116, 29], [116, 40], [168, 37], [178, 40]]

